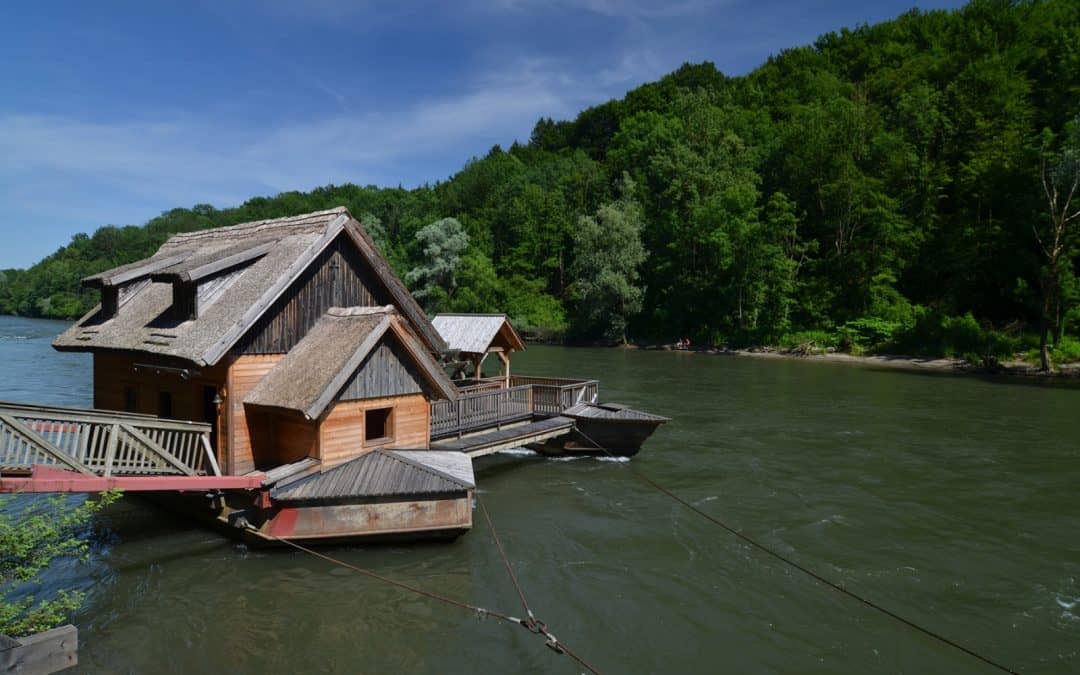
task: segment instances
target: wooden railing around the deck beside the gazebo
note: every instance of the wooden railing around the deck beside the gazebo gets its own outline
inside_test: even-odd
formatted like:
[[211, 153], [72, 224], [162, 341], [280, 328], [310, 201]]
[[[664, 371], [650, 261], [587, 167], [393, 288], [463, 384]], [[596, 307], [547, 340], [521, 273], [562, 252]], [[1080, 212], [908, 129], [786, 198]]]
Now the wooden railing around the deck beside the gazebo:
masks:
[[[457, 401], [431, 404], [431, 437], [442, 438], [529, 419], [558, 415], [579, 403], [596, 403], [596, 380], [553, 377], [511, 378], [509, 389], [464, 389]], [[486, 384], [486, 383], [482, 383]]]

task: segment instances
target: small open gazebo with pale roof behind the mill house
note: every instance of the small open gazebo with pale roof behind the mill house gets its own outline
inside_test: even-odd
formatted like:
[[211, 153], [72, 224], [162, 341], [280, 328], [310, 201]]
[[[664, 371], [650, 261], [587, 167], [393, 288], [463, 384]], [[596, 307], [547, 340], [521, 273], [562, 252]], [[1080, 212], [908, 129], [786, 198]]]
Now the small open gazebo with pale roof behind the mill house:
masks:
[[431, 323], [450, 351], [458, 352], [459, 374], [472, 365], [473, 378], [483, 380], [484, 361], [495, 354], [502, 363], [502, 386], [510, 387], [510, 355], [524, 351], [525, 342], [505, 314], [437, 314]]

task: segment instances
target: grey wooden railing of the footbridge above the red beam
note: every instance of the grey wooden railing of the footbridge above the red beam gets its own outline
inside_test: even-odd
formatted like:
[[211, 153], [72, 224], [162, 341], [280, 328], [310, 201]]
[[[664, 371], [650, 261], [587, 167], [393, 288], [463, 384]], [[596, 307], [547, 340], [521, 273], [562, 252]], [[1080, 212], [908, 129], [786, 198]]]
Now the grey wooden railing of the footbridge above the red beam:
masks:
[[51, 464], [87, 475], [220, 475], [210, 424], [0, 402], [0, 470]]

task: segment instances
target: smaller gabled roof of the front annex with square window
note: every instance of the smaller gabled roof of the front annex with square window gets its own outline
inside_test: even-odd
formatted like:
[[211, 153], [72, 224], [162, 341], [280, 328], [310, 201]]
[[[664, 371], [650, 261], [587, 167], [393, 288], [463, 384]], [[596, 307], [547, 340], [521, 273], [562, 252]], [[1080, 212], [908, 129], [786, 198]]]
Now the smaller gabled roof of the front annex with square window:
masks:
[[430, 391], [453, 399], [457, 389], [393, 307], [330, 309], [259, 381], [244, 403], [319, 419], [373, 350], [395, 340]]

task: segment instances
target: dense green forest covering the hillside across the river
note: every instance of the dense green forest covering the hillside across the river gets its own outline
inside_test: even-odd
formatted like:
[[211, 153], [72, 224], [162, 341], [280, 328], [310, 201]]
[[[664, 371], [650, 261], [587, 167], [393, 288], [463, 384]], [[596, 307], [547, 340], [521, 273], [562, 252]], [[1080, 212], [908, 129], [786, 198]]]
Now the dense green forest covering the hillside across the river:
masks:
[[75, 316], [96, 302], [80, 278], [174, 232], [346, 205], [431, 311], [502, 310], [581, 340], [928, 354], [1042, 335], [1055, 360], [1080, 357], [1077, 45], [1075, 0], [976, 0], [828, 33], [742, 77], [687, 64], [435, 185], [78, 234], [0, 272], [0, 312]]

